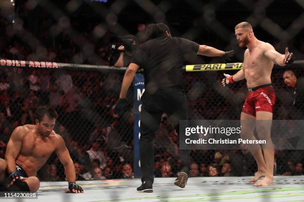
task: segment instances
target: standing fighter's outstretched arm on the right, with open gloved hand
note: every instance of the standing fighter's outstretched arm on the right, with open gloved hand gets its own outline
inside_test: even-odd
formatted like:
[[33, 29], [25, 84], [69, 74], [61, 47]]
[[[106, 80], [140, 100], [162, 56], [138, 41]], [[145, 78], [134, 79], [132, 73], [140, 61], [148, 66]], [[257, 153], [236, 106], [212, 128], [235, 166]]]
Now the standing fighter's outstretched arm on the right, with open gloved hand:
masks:
[[[290, 55], [288, 55], [287, 53], [281, 54], [277, 52], [275, 48], [269, 43], [262, 44], [261, 49], [264, 51], [264, 54], [268, 59], [280, 66], [285, 66], [285, 60], [290, 60], [291, 56], [293, 55], [293, 53], [291, 53]], [[288, 48], [286, 48], [286, 52], [288, 52]], [[287, 58], [288, 56], [289, 58]]]

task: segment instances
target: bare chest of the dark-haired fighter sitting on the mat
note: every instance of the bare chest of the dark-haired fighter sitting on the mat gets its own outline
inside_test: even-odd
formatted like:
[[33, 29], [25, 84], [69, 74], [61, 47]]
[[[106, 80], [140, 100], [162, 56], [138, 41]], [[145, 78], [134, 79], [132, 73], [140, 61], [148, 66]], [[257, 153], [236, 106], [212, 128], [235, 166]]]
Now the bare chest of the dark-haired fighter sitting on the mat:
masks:
[[27, 136], [22, 141], [21, 154], [34, 158], [49, 157], [55, 151], [55, 146], [50, 140], [42, 140], [34, 136]]

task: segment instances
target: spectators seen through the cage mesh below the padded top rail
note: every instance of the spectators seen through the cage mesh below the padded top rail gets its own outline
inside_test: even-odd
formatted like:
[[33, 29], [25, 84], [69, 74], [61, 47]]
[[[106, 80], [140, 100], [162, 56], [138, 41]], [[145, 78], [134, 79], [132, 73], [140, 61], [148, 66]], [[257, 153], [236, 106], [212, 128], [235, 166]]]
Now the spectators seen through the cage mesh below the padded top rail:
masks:
[[[300, 69], [298, 69], [298, 74]], [[100, 72], [3, 68], [0, 72], [0, 157], [12, 130], [35, 123], [35, 108], [48, 104], [56, 108], [55, 127], [66, 142], [75, 163], [78, 180], [133, 178], [133, 110], [122, 117], [113, 113], [122, 75]], [[292, 91], [282, 81], [282, 71], [274, 70], [278, 98], [275, 119], [288, 119], [292, 110]], [[190, 80], [191, 77], [191, 80]], [[238, 119], [246, 90], [242, 84], [231, 88], [215, 81], [202, 84], [212, 74], [185, 75], [185, 88], [191, 119]], [[199, 86], [201, 86], [200, 89]], [[233, 94], [239, 94], [235, 96]], [[225, 97], [228, 92], [228, 97]], [[235, 97], [234, 97], [235, 96]], [[132, 102], [132, 95], [128, 98]], [[179, 170], [178, 135], [163, 114], [155, 134], [155, 176], [173, 177]], [[248, 150], [193, 150], [190, 176], [248, 176], [256, 171]], [[302, 175], [303, 151], [275, 151], [277, 175]], [[64, 169], [56, 154], [37, 173], [41, 180], [64, 180]]]

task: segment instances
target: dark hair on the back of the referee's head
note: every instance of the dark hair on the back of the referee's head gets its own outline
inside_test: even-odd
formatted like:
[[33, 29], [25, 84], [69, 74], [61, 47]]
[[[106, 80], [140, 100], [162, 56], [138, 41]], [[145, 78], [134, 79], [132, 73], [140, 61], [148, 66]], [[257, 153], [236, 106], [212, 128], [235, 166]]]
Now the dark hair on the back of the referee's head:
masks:
[[170, 29], [166, 24], [149, 24], [145, 31], [145, 41], [166, 36], [166, 31], [170, 34]]

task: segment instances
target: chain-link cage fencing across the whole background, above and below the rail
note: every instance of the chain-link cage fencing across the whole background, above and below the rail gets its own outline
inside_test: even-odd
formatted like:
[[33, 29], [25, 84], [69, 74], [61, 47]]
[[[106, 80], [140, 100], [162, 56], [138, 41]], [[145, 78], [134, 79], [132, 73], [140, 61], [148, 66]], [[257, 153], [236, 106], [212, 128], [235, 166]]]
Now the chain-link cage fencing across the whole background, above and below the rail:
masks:
[[[281, 0], [178, 3], [8, 0], [8, 3], [15, 3], [16, 7], [11, 13], [9, 9], [1, 12], [0, 31], [5, 34], [0, 36], [0, 54], [4, 59], [108, 65], [108, 52], [118, 36], [134, 34], [142, 40], [145, 24], [164, 22], [173, 36], [219, 49], [234, 49], [233, 59], [242, 61], [243, 50], [236, 47], [233, 33], [240, 21], [249, 21], [257, 38], [270, 42], [276, 50], [282, 52], [290, 47], [297, 59], [304, 58], [301, 0], [289, 3]], [[283, 9], [287, 17], [280, 16]], [[191, 54], [185, 57], [191, 64], [220, 61]], [[296, 91], [287, 87], [282, 78], [285, 68], [273, 70], [277, 96], [273, 117], [303, 119], [304, 72], [300, 67], [288, 69], [295, 73], [299, 86]], [[12, 67], [0, 70], [1, 158], [12, 130], [18, 125], [34, 124], [35, 108], [49, 104], [59, 113], [55, 131], [65, 139], [78, 180], [133, 177], [133, 111], [130, 106], [122, 117], [113, 113], [123, 72]], [[223, 87], [222, 79], [222, 71], [184, 73], [190, 119], [239, 119], [247, 93], [245, 82]], [[130, 89], [129, 103], [132, 92]], [[154, 145], [155, 176], [174, 176], [180, 164], [178, 136], [165, 115]], [[303, 157], [303, 151], [276, 151], [275, 174], [301, 174], [298, 163], [303, 163]], [[246, 150], [197, 150], [191, 152], [191, 159], [193, 177], [248, 176], [257, 170], [254, 158]], [[52, 154], [37, 176], [42, 181], [65, 180], [64, 167], [56, 154]]]

